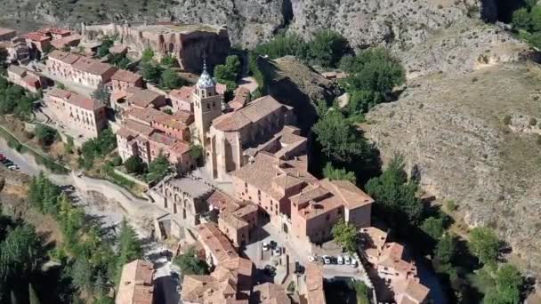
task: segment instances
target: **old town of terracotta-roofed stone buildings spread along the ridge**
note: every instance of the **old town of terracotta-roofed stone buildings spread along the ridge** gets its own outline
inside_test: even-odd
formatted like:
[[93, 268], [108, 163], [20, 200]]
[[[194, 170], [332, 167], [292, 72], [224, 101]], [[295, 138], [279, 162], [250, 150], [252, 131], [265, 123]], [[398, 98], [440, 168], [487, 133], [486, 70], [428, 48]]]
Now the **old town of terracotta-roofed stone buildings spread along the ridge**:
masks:
[[[40, 124], [76, 148], [112, 132], [115, 172], [146, 188], [159, 211], [152, 237], [209, 270], [181, 273], [178, 286], [164, 290], [156, 288], [160, 265], [128, 261], [116, 302], [157, 303], [162, 292], [194, 304], [320, 304], [328, 297], [324, 282], [344, 279], [364, 286], [370, 302], [428, 300], [407, 248], [373, 226], [375, 200], [351, 180], [309, 171], [311, 145], [295, 116], [302, 109], [262, 95], [254, 78], [231, 87], [214, 77], [230, 52], [224, 37], [224, 28], [172, 24], [22, 35], [0, 28], [5, 77], [36, 95]], [[161, 80], [151, 81], [152, 72]], [[324, 74], [331, 81], [344, 75]], [[141, 178], [158, 163], [165, 170]], [[334, 240], [338, 227], [356, 231], [359, 242], [343, 248]], [[171, 299], [159, 302], [178, 302]]]

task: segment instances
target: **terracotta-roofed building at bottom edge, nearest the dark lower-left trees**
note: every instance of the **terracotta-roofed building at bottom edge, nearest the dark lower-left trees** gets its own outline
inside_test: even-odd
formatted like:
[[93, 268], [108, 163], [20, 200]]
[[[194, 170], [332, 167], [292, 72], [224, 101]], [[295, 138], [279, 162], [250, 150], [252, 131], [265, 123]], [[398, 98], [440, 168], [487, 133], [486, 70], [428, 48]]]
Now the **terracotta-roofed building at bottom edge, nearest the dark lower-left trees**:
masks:
[[117, 304], [151, 304], [154, 266], [145, 260], [133, 260], [122, 268]]

